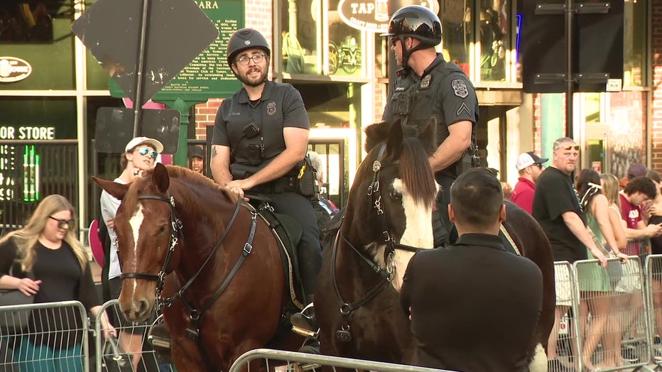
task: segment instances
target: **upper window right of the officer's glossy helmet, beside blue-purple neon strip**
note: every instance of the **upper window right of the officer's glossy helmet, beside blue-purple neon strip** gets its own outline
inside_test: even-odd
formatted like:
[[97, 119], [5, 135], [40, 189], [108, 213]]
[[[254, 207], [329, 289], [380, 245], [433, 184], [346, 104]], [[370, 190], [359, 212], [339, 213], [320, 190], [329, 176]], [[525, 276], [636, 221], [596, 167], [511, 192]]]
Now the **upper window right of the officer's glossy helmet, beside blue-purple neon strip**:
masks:
[[502, 82], [506, 80], [506, 50], [510, 49], [509, 1], [480, 0], [479, 41], [480, 80]]

